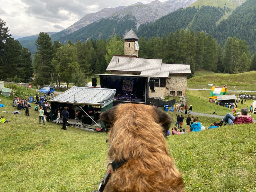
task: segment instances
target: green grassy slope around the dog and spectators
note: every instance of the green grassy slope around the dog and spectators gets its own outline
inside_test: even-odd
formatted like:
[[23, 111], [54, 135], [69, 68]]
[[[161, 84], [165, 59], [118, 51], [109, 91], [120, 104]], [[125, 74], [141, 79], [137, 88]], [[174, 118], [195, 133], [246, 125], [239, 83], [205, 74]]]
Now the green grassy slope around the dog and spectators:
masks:
[[[209, 94], [205, 90], [187, 91], [194, 112], [231, 112], [209, 103]], [[31, 117], [25, 116], [24, 110], [21, 115], [14, 115], [12, 98], [0, 95], [0, 99], [5, 106], [1, 115], [11, 121], [0, 125], [0, 191], [85, 192], [98, 188], [106, 172], [106, 133], [75, 127], [65, 131], [51, 122], [43, 126], [33, 109]], [[244, 105], [239, 104], [241, 107]], [[174, 112], [167, 113], [175, 118]], [[219, 120], [198, 118], [206, 127]], [[169, 136], [167, 146], [183, 175], [186, 191], [256, 191], [255, 132], [256, 125], [250, 124]]]

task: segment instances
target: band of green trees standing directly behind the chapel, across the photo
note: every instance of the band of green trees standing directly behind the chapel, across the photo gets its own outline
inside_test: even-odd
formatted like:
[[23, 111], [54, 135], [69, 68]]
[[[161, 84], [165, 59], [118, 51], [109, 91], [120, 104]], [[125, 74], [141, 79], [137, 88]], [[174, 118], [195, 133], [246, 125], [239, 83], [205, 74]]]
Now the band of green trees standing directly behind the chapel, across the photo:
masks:
[[[2, 25], [5, 22], [2, 21]], [[26, 82], [33, 79], [39, 85], [48, 85], [51, 74], [54, 81], [85, 85], [85, 73], [105, 73], [113, 55], [123, 55], [124, 40], [119, 36], [106, 39], [76, 41], [61, 44], [52, 43], [47, 33], [40, 33], [35, 41], [37, 51], [31, 65], [31, 54], [27, 48], [21, 49], [17, 40], [7, 34], [8, 27], [0, 29], [1, 79], [15, 79]], [[1, 37], [5, 37], [1, 39]], [[1, 43], [0, 43], [1, 44]], [[256, 70], [256, 54], [251, 55], [245, 41], [237, 37], [228, 37], [224, 46], [204, 31], [176, 30], [167, 36], [151, 37], [147, 41], [139, 40], [140, 58], [162, 58], [164, 63], [188, 63], [192, 77], [197, 69], [206, 69], [221, 73], [237, 73]], [[24, 73], [24, 71], [27, 71]]]

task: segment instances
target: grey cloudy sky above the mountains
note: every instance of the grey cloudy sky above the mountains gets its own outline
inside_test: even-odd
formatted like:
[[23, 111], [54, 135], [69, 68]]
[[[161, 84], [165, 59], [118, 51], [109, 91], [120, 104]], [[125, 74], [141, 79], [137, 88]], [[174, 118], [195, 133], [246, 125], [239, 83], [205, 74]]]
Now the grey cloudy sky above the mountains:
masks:
[[[152, 0], [1, 0], [0, 18], [13, 38], [61, 31], [88, 13]], [[163, 2], [163, 0], [160, 0]]]

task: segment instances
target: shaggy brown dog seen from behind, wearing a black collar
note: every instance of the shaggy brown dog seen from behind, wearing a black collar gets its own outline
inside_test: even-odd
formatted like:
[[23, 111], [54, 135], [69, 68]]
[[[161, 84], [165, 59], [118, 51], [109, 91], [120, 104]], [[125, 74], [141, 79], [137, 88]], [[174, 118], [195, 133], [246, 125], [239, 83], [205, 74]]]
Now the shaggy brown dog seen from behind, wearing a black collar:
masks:
[[104, 192], [185, 191], [175, 168], [165, 136], [171, 123], [167, 113], [144, 104], [122, 104], [101, 113], [108, 135], [107, 161], [124, 162], [111, 177]]

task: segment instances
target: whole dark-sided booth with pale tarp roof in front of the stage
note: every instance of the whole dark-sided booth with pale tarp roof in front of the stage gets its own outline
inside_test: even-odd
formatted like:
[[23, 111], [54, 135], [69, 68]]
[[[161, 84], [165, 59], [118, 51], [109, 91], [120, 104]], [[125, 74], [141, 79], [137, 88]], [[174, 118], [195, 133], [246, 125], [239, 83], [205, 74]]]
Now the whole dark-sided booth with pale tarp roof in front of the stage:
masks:
[[[85, 129], [93, 132], [96, 131], [96, 128], [102, 129], [103, 127], [102, 122], [101, 123], [96, 122], [97, 120], [94, 119], [93, 116], [90, 116], [88, 112], [81, 107], [81, 105], [82, 106], [86, 106], [86, 105], [99, 106], [97, 110], [99, 109], [100, 111], [99, 112], [96, 111], [94, 115], [96, 118], [98, 113], [101, 113], [113, 106], [113, 98], [115, 93], [116, 93], [115, 89], [71, 87], [69, 90], [66, 90], [60, 95], [57, 95], [56, 97], [49, 100], [49, 102], [51, 103], [51, 121], [56, 123], [55, 114], [57, 110], [63, 109], [63, 107], [65, 106], [72, 105], [73, 106], [71, 110], [72, 112], [70, 111], [71, 118], [69, 119], [69, 122], [68, 122], [69, 126], [78, 127], [80, 129]], [[74, 114], [72, 114], [73, 110], [74, 110]], [[92, 123], [90, 125], [84, 124], [82, 119], [83, 115], [91, 119]]]

